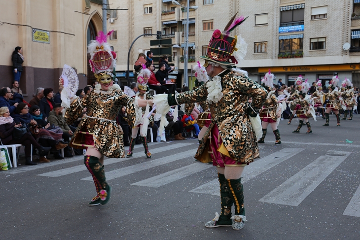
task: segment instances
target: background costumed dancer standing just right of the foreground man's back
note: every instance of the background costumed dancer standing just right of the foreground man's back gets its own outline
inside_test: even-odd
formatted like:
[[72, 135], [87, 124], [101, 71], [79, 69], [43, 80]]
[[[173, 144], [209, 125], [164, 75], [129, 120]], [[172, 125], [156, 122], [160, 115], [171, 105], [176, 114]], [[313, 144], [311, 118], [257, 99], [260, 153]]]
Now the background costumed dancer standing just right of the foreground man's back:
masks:
[[[257, 141], [257, 143], [265, 143], [264, 139], [267, 132], [267, 126], [270, 124], [271, 129], [275, 135], [275, 145], [281, 145], [281, 137], [278, 125], [281, 120], [281, 114], [284, 111], [284, 107], [282, 103], [278, 102], [278, 99], [275, 96], [275, 90], [273, 90], [273, 79], [274, 74], [272, 74], [269, 69], [269, 72], [265, 74], [265, 77], [262, 81], [262, 86], [268, 91], [268, 95], [263, 107], [259, 112], [262, 127], [262, 137]], [[285, 101], [283, 103], [285, 103]]]

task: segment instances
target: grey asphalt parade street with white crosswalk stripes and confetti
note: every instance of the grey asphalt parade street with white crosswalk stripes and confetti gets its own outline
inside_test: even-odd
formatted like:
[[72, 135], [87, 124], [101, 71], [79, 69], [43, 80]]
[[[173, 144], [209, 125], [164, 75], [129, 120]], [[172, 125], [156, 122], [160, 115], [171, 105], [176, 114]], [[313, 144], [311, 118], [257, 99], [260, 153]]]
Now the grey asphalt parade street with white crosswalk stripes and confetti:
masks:
[[[96, 195], [83, 156], [0, 172], [2, 240], [359, 240], [360, 116], [310, 120], [313, 134], [291, 133], [282, 120], [282, 145], [270, 128], [260, 158], [245, 168], [247, 222], [208, 229], [220, 212], [216, 168], [195, 163], [197, 139], [136, 145], [132, 158], [105, 159], [111, 199]], [[350, 143], [353, 141], [352, 143]], [[127, 150], [127, 148], [126, 148]], [[234, 212], [234, 211], [233, 211]]]

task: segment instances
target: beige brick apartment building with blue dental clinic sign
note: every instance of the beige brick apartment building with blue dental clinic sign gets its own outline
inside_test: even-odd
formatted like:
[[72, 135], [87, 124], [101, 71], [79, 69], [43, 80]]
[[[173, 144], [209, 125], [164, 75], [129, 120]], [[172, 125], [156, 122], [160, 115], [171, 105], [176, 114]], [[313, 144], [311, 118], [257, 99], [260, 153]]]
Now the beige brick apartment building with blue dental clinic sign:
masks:
[[[186, 0], [179, 2], [186, 6]], [[172, 0], [110, 0], [110, 3], [114, 8], [128, 9], [118, 10], [108, 25], [109, 30], [118, 32], [118, 38], [110, 44], [121, 56], [117, 70], [122, 81], [130, 45], [139, 35], [161, 31], [163, 39], [172, 39], [172, 45], [184, 46], [186, 8], [174, 5]], [[327, 85], [337, 74], [360, 87], [360, 0], [190, 0], [189, 6], [198, 6], [189, 10], [190, 87], [194, 81], [190, 69], [206, 53], [213, 31], [223, 30], [237, 11], [249, 16], [234, 34], [241, 34], [248, 43], [241, 66], [253, 80], [259, 81], [271, 69], [277, 79], [282, 78], [288, 85], [299, 74], [310, 83], [319, 78]], [[150, 46], [152, 39], [156, 36], [140, 37], [134, 42], [130, 70], [139, 53], [156, 47]], [[183, 49], [173, 48], [172, 53], [172, 63], [178, 68], [172, 75], [180, 86]]]

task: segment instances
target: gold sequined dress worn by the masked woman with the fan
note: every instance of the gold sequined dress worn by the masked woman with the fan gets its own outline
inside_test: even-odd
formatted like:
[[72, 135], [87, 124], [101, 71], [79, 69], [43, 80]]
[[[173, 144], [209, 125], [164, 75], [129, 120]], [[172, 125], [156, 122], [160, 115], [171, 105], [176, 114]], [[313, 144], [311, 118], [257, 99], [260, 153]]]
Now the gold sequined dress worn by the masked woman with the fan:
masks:
[[[134, 98], [125, 95], [120, 88], [112, 91], [94, 90], [81, 99], [72, 102], [65, 113], [68, 124], [72, 124], [87, 108], [87, 116], [80, 121], [70, 146], [85, 149], [95, 147], [109, 158], [123, 158], [124, 144], [121, 127], [116, 123], [116, 116], [121, 105], [127, 106], [128, 121], [134, 123]], [[86, 141], [86, 135], [92, 135], [94, 146]]]

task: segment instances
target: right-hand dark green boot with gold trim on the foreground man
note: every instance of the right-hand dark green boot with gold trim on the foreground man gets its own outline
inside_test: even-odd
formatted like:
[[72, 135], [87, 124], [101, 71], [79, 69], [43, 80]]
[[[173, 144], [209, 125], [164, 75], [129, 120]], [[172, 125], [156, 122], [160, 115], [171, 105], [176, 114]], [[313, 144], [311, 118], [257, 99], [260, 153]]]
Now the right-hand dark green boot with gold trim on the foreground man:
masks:
[[245, 207], [244, 207], [244, 188], [241, 184], [241, 178], [239, 179], [227, 179], [227, 185], [229, 186], [230, 196], [235, 206], [235, 215], [231, 217], [233, 219], [232, 228], [234, 230], [240, 230], [244, 227]]

